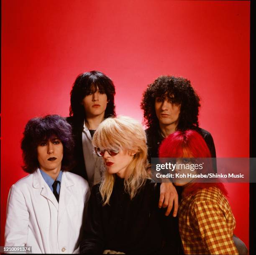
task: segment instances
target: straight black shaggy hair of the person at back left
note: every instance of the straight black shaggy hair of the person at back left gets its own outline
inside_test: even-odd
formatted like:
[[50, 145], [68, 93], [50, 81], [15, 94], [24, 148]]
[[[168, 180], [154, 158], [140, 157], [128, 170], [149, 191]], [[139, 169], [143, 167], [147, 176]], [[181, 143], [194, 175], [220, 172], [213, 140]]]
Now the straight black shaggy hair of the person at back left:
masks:
[[105, 110], [104, 118], [115, 117], [115, 86], [110, 78], [100, 71], [90, 71], [79, 74], [75, 80], [70, 92], [69, 115], [73, 116], [76, 121], [83, 122], [86, 118], [84, 106], [81, 105], [85, 96], [95, 93], [97, 88], [100, 92], [107, 95], [108, 104]]

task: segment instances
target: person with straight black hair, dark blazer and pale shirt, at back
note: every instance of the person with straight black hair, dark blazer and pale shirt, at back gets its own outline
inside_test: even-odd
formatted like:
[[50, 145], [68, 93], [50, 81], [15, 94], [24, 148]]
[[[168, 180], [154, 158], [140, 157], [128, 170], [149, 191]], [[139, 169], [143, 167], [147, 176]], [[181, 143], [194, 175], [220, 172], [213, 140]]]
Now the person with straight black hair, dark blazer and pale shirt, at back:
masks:
[[77, 76], [70, 92], [70, 117], [75, 142], [72, 169], [89, 182], [92, 187], [100, 181], [102, 159], [97, 157], [92, 146], [92, 137], [100, 123], [115, 117], [115, 86], [112, 80], [100, 71], [90, 71]]

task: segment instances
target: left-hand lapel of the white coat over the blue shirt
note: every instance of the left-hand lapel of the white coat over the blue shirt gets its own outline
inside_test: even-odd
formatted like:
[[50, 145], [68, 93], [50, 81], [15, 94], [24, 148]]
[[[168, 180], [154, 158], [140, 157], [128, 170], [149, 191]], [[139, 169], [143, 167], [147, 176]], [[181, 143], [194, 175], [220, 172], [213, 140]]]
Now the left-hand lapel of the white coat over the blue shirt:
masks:
[[46, 199], [50, 200], [54, 204], [56, 209], [58, 210], [58, 208], [59, 208], [58, 201], [57, 201], [56, 197], [54, 196], [53, 192], [51, 191], [51, 189], [49, 188], [48, 184], [46, 184], [46, 182], [44, 181], [44, 178], [41, 175], [39, 169], [37, 169], [33, 175], [33, 187], [36, 189], [43, 188], [41, 190], [41, 196], [44, 196]]

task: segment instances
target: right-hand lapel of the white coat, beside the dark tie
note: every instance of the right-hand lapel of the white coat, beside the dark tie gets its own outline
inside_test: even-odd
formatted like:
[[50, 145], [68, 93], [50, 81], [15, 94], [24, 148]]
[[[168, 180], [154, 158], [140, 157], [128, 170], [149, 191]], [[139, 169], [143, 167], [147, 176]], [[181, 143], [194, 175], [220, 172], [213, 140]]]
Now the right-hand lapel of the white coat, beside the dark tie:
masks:
[[74, 186], [74, 182], [68, 178], [68, 173], [64, 171], [61, 177], [61, 189], [59, 192], [58, 226], [72, 196], [72, 186]]

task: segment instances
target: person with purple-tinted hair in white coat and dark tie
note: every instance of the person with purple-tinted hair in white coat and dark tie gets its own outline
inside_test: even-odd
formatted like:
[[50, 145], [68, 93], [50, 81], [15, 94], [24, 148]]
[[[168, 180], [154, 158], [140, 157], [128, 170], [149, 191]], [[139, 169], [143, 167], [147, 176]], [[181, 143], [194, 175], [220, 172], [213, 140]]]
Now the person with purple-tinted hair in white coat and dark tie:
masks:
[[69, 172], [73, 148], [72, 128], [63, 117], [28, 121], [21, 149], [29, 175], [10, 188], [5, 246], [24, 246], [32, 253], [76, 252], [90, 189], [84, 178]]

